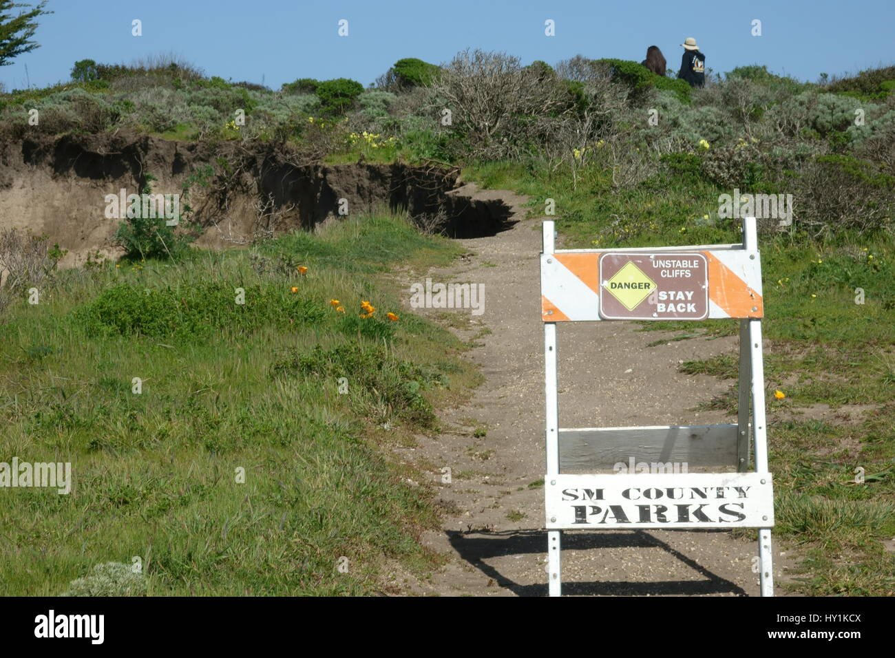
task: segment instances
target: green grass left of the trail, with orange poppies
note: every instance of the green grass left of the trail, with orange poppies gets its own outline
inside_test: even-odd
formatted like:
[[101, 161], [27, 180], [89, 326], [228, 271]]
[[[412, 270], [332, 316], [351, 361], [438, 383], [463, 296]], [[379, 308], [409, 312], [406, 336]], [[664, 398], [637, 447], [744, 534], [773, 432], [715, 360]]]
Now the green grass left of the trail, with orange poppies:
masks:
[[400, 307], [379, 273], [455, 252], [377, 215], [254, 252], [68, 270], [13, 306], [0, 458], [71, 462], [74, 484], [4, 490], [0, 591], [60, 594], [135, 556], [150, 595], [371, 594], [396, 560], [431, 568], [428, 488], [380, 446], [433, 431], [433, 405], [475, 373], [447, 330], [380, 320]]

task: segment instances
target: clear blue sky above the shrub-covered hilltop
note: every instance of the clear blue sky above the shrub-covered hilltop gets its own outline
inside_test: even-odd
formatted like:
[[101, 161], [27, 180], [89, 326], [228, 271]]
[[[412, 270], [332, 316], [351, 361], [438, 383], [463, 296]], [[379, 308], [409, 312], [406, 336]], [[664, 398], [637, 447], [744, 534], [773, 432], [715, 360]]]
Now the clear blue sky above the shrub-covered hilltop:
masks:
[[[171, 52], [209, 75], [263, 77], [274, 89], [305, 77], [367, 85], [402, 57], [439, 64], [465, 47], [555, 64], [576, 54], [640, 61], [656, 45], [677, 70], [686, 37], [720, 73], [757, 63], [814, 81], [895, 63], [892, 0], [50, 0], [47, 8], [55, 13], [39, 19], [41, 47], [0, 67], [7, 90], [66, 81], [83, 58], [130, 63]], [[142, 37], [131, 34], [133, 19]], [[337, 35], [340, 19], [347, 37]], [[548, 19], [554, 37], [544, 35]]]

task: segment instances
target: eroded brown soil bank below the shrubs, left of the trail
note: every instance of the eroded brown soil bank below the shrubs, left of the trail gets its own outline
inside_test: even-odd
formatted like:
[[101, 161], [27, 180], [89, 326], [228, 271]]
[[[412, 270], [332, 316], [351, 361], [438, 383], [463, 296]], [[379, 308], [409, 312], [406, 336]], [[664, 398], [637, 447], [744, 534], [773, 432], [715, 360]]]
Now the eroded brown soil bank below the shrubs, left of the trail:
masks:
[[[210, 175], [200, 180], [203, 168]], [[211, 169], [209, 169], [211, 167]], [[223, 248], [260, 235], [313, 230], [340, 209], [354, 215], [387, 208], [414, 218], [442, 216], [453, 237], [494, 235], [507, 226], [501, 200], [457, 193], [459, 172], [405, 164], [301, 164], [272, 144], [167, 141], [133, 132], [27, 137], [0, 144], [0, 228], [30, 229], [69, 250], [64, 265], [89, 252], [116, 257], [118, 219], [106, 217], [106, 195], [183, 192], [205, 227], [198, 244]]]

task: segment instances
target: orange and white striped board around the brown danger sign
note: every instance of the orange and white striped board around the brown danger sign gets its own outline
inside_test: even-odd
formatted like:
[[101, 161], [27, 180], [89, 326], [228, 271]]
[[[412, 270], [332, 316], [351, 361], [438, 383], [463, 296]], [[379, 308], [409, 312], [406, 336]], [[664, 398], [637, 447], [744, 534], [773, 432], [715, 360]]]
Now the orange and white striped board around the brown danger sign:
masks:
[[[763, 317], [759, 253], [746, 251], [740, 244], [719, 244], [712, 247], [568, 250], [543, 253], [541, 254], [541, 320], [545, 322], [604, 320], [600, 315], [600, 295], [609, 295], [609, 288], [606, 281], [600, 280], [600, 261], [604, 254], [619, 252], [657, 259], [673, 258], [677, 253], [701, 254], [705, 258], [708, 270], [708, 317]], [[649, 303], [654, 302], [649, 300], [644, 306]]]

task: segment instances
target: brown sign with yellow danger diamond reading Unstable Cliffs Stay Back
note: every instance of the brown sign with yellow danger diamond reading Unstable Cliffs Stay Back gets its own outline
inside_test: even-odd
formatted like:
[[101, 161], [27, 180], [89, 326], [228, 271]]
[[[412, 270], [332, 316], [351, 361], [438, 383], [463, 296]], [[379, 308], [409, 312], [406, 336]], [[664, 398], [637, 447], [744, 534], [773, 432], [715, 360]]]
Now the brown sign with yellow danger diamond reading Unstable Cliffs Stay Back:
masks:
[[606, 320], [704, 320], [708, 265], [702, 253], [603, 253], [600, 315]]

